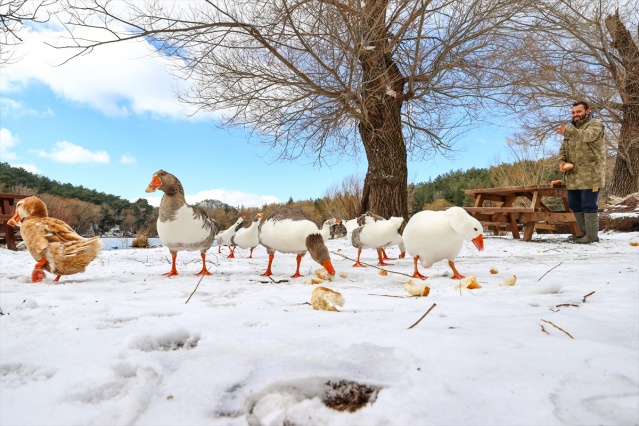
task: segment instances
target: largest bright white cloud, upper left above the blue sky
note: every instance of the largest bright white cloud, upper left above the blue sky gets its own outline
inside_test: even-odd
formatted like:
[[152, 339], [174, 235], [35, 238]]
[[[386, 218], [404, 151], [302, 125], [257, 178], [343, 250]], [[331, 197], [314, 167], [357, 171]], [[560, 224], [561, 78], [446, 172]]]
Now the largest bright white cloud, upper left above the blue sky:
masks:
[[144, 41], [100, 46], [64, 63], [77, 52], [45, 44], [59, 43], [67, 36], [63, 30], [38, 26], [25, 28], [20, 36], [24, 42], [16, 49], [21, 59], [0, 73], [3, 93], [20, 91], [37, 81], [64, 99], [110, 116], [152, 114], [187, 119], [193, 112], [177, 100], [176, 91], [187, 83], [168, 71], [174, 59], [153, 53]]

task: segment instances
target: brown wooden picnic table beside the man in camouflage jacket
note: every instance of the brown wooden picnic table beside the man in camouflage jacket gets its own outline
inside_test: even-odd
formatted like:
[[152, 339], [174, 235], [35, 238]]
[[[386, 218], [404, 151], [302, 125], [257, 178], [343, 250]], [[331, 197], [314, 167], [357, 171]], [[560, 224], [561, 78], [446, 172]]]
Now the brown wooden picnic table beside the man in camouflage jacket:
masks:
[[[557, 230], [557, 223], [561, 222], [569, 225], [573, 235], [578, 232], [575, 215], [568, 208], [568, 191], [565, 185], [468, 189], [465, 192], [475, 198], [473, 207], [464, 207], [468, 213], [484, 227], [504, 228], [510, 231], [514, 239], [520, 238], [520, 227], [524, 231], [523, 240], [530, 241], [535, 229], [554, 232]], [[547, 204], [549, 197], [561, 199], [563, 210], [551, 210]], [[529, 202], [516, 203], [520, 198]]]

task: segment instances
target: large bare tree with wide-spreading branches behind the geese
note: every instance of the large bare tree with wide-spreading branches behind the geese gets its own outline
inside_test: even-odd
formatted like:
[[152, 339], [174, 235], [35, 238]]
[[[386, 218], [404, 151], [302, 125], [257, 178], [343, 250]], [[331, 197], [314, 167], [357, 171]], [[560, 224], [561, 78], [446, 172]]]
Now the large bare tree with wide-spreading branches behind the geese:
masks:
[[[368, 161], [361, 210], [407, 216], [407, 157], [451, 149], [499, 88], [496, 51], [525, 1], [68, 1], [66, 47], [149, 41], [181, 60], [181, 98], [289, 160]], [[91, 36], [89, 30], [101, 30]], [[106, 31], [105, 31], [106, 30]], [[93, 37], [93, 38], [92, 38]], [[60, 44], [58, 44], [60, 46]], [[501, 71], [500, 71], [501, 70]], [[361, 143], [358, 143], [358, 139]]]

